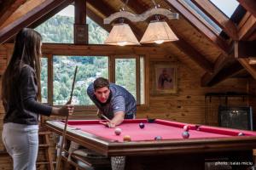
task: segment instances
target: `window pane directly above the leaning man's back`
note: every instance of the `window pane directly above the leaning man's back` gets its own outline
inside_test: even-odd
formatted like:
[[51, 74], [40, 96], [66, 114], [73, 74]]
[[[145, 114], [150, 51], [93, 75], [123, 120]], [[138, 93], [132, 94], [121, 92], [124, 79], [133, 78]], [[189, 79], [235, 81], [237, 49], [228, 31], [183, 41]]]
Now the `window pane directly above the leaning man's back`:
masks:
[[115, 59], [115, 83], [136, 98], [136, 59]]

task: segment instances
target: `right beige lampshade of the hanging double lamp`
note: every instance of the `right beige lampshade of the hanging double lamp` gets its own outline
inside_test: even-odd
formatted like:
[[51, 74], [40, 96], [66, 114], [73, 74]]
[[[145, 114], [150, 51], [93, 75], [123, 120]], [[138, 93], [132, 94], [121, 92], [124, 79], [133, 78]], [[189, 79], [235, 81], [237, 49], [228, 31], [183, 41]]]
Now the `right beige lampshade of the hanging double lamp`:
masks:
[[177, 41], [178, 38], [166, 21], [152, 21], [145, 31], [141, 43], [162, 43]]

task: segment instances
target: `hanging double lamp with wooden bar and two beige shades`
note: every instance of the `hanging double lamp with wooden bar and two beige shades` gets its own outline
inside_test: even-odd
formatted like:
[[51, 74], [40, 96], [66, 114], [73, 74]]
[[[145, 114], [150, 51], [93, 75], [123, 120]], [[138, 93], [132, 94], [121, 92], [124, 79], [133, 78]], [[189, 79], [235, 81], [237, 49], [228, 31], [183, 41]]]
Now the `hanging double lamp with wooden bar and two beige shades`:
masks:
[[[126, 1], [128, 3], [128, 1]], [[153, 0], [154, 3], [154, 0]], [[160, 15], [166, 16], [167, 19], [178, 19], [177, 13], [172, 13], [166, 8], [158, 8], [154, 3], [154, 8], [148, 9], [143, 14], [131, 14], [122, 8], [117, 13], [111, 14], [108, 18], [104, 19], [104, 24], [110, 24], [113, 20], [121, 19], [121, 24], [113, 25], [105, 44], [110, 45], [139, 45], [137, 38], [131, 31], [131, 27], [124, 23], [124, 20], [131, 20], [131, 22], [141, 22], [147, 20], [150, 16], [155, 16], [156, 20], [149, 23], [147, 30], [143, 34], [141, 43], [162, 43], [177, 41], [178, 38], [172, 31], [170, 26], [164, 20], [160, 20]]]

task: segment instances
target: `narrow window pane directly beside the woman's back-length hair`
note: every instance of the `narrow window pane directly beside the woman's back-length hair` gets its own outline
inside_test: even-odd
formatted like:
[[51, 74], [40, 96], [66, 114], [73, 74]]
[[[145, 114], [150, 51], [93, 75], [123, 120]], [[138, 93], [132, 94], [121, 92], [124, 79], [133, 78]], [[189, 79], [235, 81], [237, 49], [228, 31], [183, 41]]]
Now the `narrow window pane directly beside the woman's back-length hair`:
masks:
[[41, 58], [41, 95], [42, 102], [48, 103], [48, 59]]

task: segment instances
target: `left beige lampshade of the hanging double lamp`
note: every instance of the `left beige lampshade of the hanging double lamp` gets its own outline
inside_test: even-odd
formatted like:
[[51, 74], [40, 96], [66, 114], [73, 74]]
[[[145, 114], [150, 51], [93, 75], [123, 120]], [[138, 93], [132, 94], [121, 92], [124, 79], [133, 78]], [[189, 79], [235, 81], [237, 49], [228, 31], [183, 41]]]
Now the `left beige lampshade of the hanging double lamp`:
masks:
[[140, 45], [131, 31], [131, 27], [125, 23], [114, 25], [104, 43], [119, 46]]

